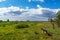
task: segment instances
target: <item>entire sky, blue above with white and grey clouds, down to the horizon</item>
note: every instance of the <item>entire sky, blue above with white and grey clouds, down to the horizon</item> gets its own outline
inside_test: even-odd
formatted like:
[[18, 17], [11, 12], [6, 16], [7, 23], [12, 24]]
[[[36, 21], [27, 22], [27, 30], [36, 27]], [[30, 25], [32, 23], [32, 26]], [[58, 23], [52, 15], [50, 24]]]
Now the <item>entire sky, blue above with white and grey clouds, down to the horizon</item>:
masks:
[[47, 21], [60, 10], [60, 0], [0, 0], [0, 20]]

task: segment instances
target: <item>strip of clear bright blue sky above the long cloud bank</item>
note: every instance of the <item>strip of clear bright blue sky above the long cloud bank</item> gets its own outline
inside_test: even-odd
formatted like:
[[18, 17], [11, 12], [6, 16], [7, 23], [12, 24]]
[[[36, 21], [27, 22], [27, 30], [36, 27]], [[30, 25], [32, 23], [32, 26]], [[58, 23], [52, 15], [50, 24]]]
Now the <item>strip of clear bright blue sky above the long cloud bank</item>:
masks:
[[9, 7], [9, 6], [17, 6], [25, 8], [26, 6], [30, 8], [37, 8], [36, 5], [41, 5], [45, 8], [60, 8], [60, 0], [5, 0], [0, 2], [0, 7]]

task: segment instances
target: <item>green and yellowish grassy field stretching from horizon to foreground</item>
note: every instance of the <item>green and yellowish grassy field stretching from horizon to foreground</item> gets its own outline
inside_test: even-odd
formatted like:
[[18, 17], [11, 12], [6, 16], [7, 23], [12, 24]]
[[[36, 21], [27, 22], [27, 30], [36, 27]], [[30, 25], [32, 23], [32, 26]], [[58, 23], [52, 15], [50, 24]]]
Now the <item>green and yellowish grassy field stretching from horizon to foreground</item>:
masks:
[[0, 22], [0, 40], [60, 40], [60, 28], [50, 22]]

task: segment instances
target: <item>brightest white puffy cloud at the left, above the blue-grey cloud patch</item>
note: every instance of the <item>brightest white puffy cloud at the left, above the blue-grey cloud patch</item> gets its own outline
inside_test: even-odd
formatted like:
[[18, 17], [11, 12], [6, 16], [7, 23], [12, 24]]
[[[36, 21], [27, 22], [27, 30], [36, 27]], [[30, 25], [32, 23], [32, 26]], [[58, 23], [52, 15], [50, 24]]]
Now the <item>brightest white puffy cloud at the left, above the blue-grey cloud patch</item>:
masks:
[[8, 8], [0, 8], [0, 15], [9, 13], [9, 12], [15, 12], [15, 11], [23, 11], [24, 9], [20, 9], [19, 7], [14, 7], [14, 6], [10, 6]]

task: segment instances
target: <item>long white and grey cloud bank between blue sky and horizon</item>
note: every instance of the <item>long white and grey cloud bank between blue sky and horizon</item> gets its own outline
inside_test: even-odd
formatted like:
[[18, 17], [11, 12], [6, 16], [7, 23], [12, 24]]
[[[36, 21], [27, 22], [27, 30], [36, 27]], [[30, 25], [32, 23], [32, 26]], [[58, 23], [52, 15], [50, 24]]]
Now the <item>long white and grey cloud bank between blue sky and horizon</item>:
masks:
[[[37, 6], [38, 8], [29, 8], [26, 7], [25, 9], [10, 6], [7, 8], [0, 8], [0, 19], [2, 20], [47, 20], [47, 17], [44, 17], [45, 13], [57, 13], [60, 9], [50, 9], [50, 8], [43, 8], [40, 5]], [[44, 12], [45, 11], [45, 12]], [[17, 15], [18, 14], [18, 15]]]

